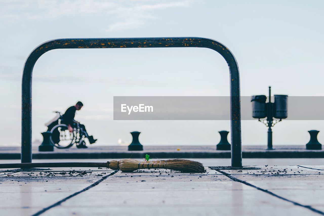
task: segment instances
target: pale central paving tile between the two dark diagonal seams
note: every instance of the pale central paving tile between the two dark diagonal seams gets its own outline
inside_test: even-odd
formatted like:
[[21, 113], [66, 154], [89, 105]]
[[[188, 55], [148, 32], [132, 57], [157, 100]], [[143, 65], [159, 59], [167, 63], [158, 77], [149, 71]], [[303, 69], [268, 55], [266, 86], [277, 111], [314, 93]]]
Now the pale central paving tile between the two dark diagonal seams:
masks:
[[[149, 175], [121, 177], [122, 174], [111, 176], [98, 186], [67, 200], [46, 214], [59, 214], [64, 210], [73, 213], [81, 207], [96, 209], [94, 212], [99, 215], [107, 215], [108, 209], [112, 208], [116, 210], [111, 211], [111, 215], [142, 215], [145, 211], [154, 212], [155, 215], [214, 215], [215, 212], [233, 215], [233, 211], [238, 215], [260, 215], [264, 208], [271, 209], [271, 214], [274, 214], [274, 210], [287, 212], [287, 215], [288, 212], [294, 212], [295, 215], [297, 212], [312, 214], [309, 210], [232, 181], [224, 175], [221, 175], [222, 178], [227, 178], [224, 181], [217, 181], [214, 175], [206, 175], [192, 181], [190, 178], [195, 175], [168, 175], [168, 181], [165, 182], [152, 181], [152, 176]], [[128, 183], [124, 181], [131, 178], [134, 180]], [[121, 179], [123, 180], [118, 181]], [[140, 182], [139, 179], [144, 181]], [[188, 211], [193, 206], [197, 207]]]

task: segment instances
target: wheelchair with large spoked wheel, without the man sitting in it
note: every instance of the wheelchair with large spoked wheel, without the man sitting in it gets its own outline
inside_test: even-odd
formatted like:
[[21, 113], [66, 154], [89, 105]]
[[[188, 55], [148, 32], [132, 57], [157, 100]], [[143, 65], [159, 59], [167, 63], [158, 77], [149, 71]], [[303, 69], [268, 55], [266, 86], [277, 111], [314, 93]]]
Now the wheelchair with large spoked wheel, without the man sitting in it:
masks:
[[62, 113], [55, 111], [57, 116], [49, 123], [45, 124], [48, 127], [47, 131], [51, 132], [50, 143], [59, 149], [67, 149], [76, 145], [85, 145], [86, 134], [77, 122], [73, 125], [73, 131], [68, 130], [68, 126], [61, 124]]

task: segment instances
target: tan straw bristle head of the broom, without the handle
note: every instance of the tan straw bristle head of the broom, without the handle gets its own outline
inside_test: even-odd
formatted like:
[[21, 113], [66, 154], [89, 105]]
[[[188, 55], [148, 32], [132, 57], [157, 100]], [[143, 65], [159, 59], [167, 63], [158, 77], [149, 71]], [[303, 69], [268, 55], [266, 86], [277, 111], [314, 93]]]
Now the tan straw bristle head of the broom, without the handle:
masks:
[[204, 167], [201, 162], [171, 159], [156, 161], [137, 161], [134, 159], [121, 159], [119, 161], [108, 161], [107, 167], [113, 170], [121, 170], [122, 172], [133, 172], [138, 169], [170, 169], [181, 171], [184, 173], [203, 173]]

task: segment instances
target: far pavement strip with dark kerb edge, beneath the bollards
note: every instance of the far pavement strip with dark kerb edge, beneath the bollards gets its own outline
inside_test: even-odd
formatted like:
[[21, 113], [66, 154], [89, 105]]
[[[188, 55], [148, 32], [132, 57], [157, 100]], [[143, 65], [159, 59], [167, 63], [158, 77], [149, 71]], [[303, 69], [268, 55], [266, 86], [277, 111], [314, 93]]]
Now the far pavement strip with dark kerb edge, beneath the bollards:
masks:
[[[242, 146], [243, 158], [324, 158], [324, 150], [306, 150], [304, 146]], [[33, 159], [140, 158], [148, 154], [157, 158], [231, 158], [230, 150], [214, 146], [144, 146], [143, 151], [128, 151], [127, 146], [90, 146], [87, 149], [57, 149], [40, 152], [33, 147]], [[20, 159], [20, 147], [0, 147], [0, 159]]]

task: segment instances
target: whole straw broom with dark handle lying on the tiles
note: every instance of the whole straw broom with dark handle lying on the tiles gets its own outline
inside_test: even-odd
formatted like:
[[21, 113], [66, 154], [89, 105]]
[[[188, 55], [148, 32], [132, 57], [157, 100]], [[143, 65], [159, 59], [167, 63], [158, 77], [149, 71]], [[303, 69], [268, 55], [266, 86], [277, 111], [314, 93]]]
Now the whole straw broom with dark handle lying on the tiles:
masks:
[[106, 167], [122, 172], [133, 172], [138, 169], [170, 169], [183, 173], [203, 173], [203, 164], [185, 159], [138, 161], [134, 159], [113, 160], [103, 163], [93, 162], [52, 162], [52, 163], [3, 163], [0, 168], [35, 168], [35, 167]]

